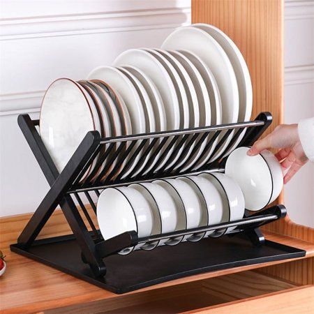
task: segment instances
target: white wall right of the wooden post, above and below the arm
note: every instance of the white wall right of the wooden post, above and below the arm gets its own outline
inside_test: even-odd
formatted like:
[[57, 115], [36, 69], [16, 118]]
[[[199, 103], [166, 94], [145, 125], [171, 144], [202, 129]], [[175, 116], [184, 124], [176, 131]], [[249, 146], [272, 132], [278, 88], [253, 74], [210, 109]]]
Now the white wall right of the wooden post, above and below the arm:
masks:
[[[314, 116], [314, 1], [285, 1], [285, 123]], [[292, 220], [314, 227], [314, 165], [285, 186]]]

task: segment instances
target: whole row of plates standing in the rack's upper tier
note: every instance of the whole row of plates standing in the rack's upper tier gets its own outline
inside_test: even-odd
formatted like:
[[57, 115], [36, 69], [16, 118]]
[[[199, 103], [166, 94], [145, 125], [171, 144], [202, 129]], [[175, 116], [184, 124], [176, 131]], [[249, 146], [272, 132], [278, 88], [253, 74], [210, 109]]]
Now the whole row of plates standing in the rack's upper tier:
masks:
[[[114, 137], [230, 124], [251, 118], [252, 86], [248, 68], [241, 52], [225, 33], [208, 24], [193, 24], [174, 31], [161, 48], [127, 50], [117, 57], [114, 67], [98, 67], [86, 81], [59, 79], [50, 85], [40, 111], [40, 135], [59, 171], [89, 130], [98, 130], [102, 137]], [[202, 154], [205, 141], [186, 164], [189, 154], [177, 162], [184, 146], [169, 160], [174, 146], [156, 165], [163, 153], [160, 150], [143, 174], [172, 166], [197, 169], [230, 154], [244, 132], [227, 151], [234, 135], [230, 133], [214, 155], [223, 133], [210, 151]], [[192, 149], [188, 147], [188, 152]], [[104, 151], [99, 156], [102, 154]], [[123, 177], [142, 172], [150, 156], [145, 156], [138, 165], [141, 157], [136, 156]], [[95, 163], [85, 178], [94, 167]], [[95, 178], [99, 172], [101, 169]], [[102, 173], [103, 179], [107, 173]]]

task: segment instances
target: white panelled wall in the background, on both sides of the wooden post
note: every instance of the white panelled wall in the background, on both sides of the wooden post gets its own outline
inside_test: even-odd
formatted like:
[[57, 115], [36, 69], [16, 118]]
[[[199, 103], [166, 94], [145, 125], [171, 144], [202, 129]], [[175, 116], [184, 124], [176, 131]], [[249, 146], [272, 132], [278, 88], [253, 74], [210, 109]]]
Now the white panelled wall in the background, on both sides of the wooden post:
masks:
[[[158, 47], [190, 22], [189, 0], [1, 0], [0, 216], [36, 209], [48, 185], [17, 127], [57, 77], [86, 77], [130, 47]], [[57, 4], [56, 4], [57, 3]], [[285, 1], [285, 121], [313, 112], [313, 1]], [[314, 226], [313, 165], [285, 188], [290, 217]]]

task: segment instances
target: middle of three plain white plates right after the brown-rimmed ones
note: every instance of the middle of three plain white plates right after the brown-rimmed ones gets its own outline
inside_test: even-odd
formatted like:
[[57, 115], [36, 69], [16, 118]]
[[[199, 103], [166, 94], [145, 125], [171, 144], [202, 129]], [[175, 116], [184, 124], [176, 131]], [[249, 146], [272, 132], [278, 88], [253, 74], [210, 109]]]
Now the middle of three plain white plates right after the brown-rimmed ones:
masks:
[[[147, 133], [156, 132], [156, 121], [154, 117], [154, 110], [153, 110], [153, 106], [151, 105], [151, 100], [149, 99], [149, 95], [147, 94], [146, 89], [144, 89], [144, 86], [142, 85], [140, 80], [137, 80], [137, 77], [135, 77], [135, 75], [130, 73], [125, 68], [118, 67], [118, 69], [121, 70], [121, 72], [124, 73], [128, 77], [130, 82], [132, 82], [135, 89], [137, 90], [137, 94], [141, 98], [142, 105], [144, 108], [144, 113], [145, 113], [145, 124], [146, 124]], [[150, 142], [151, 140], [147, 142], [147, 144], [143, 147], [143, 149], [147, 149], [147, 146], [149, 145]], [[136, 163], [134, 163], [133, 167], [130, 167], [129, 170], [124, 174], [122, 178], [130, 174], [130, 172], [132, 172], [133, 169], [135, 169], [135, 167], [137, 168], [137, 170], [134, 172], [133, 176], [136, 176], [138, 173], [140, 173], [142, 169], [144, 168], [144, 166], [147, 164], [147, 161], [151, 157], [152, 152], [153, 151], [150, 151], [149, 154], [147, 154], [147, 156], [142, 162], [142, 165], [137, 165]]]

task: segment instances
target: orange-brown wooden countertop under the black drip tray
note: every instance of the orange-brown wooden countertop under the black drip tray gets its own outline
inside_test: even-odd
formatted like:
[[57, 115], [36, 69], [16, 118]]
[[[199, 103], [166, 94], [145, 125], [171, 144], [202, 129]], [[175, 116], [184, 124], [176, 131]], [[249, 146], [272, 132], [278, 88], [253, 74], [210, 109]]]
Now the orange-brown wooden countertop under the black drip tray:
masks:
[[[267, 239], [304, 249], [307, 251], [306, 257], [314, 256], [314, 244], [309, 242], [271, 233], [267, 234]], [[33, 313], [61, 306], [119, 297], [117, 294], [100, 289], [73, 276], [63, 274], [61, 271], [29, 260], [27, 257], [12, 253], [8, 249], [4, 253], [7, 255], [6, 261], [8, 262], [6, 274], [0, 278], [0, 309], [4, 313]], [[199, 281], [289, 261], [291, 260], [267, 262], [222, 271], [211, 271], [206, 274], [189, 276], [154, 285], [130, 292], [130, 294], [138, 294], [160, 287]]]

